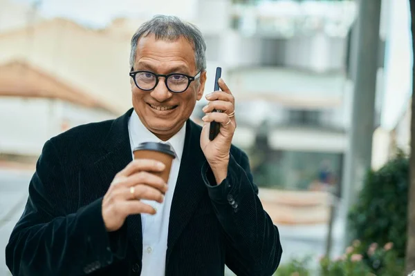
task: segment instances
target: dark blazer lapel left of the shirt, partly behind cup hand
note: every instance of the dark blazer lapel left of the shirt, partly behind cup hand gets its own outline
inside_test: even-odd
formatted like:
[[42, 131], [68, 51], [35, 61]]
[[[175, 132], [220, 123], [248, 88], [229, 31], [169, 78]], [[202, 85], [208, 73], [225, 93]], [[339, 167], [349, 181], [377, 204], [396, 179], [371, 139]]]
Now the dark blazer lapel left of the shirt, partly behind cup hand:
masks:
[[[90, 183], [96, 183], [97, 177], [100, 179], [98, 187], [89, 186], [90, 190], [95, 190], [95, 198], [102, 197], [113, 181], [116, 174], [125, 168], [133, 159], [129, 141], [128, 121], [133, 108], [127, 111], [122, 117], [113, 121], [107, 137], [104, 139], [102, 148], [104, 155], [96, 161], [91, 168], [87, 168], [89, 178], [94, 179]], [[81, 193], [82, 194], [82, 193]], [[138, 256], [142, 255], [142, 226], [140, 215], [130, 215], [127, 217], [127, 232], [129, 241], [133, 244]]]

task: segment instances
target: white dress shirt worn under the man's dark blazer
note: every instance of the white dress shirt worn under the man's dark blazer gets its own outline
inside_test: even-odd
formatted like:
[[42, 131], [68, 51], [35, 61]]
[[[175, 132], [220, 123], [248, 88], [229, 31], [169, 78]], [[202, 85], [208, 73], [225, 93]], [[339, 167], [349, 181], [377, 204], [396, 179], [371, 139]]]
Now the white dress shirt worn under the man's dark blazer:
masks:
[[162, 204], [157, 201], [145, 200], [141, 201], [145, 204], [153, 206], [156, 215], [142, 214], [142, 270], [143, 276], [162, 276], [165, 275], [165, 259], [167, 251], [167, 237], [169, 230], [170, 208], [172, 207], [172, 199], [174, 188], [178, 177], [178, 169], [180, 168], [181, 158], [183, 155], [183, 147], [185, 144], [186, 124], [179, 130], [176, 135], [168, 141], [161, 141], [150, 132], [140, 121], [137, 113], [132, 112], [129, 119], [128, 130], [131, 144], [131, 154], [134, 148], [143, 142], [162, 142], [172, 146], [176, 153], [173, 159], [172, 168], [170, 170], [169, 181], [167, 183], [168, 190]]

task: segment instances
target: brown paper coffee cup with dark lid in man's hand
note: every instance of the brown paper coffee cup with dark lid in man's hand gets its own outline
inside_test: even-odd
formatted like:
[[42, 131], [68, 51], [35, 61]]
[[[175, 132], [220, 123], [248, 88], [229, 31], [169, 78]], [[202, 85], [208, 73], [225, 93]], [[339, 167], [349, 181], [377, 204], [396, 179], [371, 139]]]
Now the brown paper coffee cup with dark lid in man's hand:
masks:
[[163, 178], [163, 180], [167, 183], [173, 159], [176, 157], [173, 148], [169, 144], [145, 142], [134, 148], [133, 153], [134, 159], [154, 159], [165, 164], [165, 170], [162, 172], [151, 173]]

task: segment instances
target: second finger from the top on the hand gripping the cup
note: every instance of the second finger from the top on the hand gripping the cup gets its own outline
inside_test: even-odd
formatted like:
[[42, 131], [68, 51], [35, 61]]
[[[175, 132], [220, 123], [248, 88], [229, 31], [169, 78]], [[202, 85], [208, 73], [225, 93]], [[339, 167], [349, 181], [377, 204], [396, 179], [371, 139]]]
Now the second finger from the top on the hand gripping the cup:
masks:
[[136, 172], [129, 177], [125, 177], [123, 181], [118, 182], [117, 186], [120, 188], [130, 188], [139, 184], [145, 184], [160, 190], [162, 193], [166, 193], [167, 184], [163, 178], [158, 175], [154, 175], [151, 172]]

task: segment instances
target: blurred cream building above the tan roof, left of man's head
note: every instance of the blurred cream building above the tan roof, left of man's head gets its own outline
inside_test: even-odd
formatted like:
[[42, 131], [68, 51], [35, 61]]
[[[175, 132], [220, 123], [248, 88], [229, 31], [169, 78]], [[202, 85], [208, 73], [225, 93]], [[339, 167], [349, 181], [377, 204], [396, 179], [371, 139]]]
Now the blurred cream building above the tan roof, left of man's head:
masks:
[[0, 64], [24, 61], [64, 79], [112, 106], [131, 106], [129, 39], [80, 26], [68, 19], [41, 21], [0, 33]]

